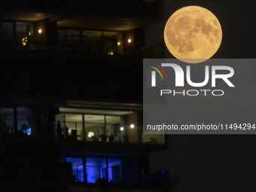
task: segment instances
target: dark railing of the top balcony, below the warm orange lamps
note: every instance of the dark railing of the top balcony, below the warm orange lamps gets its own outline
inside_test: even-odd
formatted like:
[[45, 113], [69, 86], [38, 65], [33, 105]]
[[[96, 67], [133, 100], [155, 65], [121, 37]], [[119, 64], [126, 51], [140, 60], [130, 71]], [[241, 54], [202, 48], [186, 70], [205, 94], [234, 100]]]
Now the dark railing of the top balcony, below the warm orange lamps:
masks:
[[42, 50], [85, 55], [141, 56], [163, 58], [164, 44], [147, 42], [147, 46], [135, 47], [135, 42], [118, 38], [89, 38], [80, 35], [51, 36], [0, 33], [0, 47], [7, 50]]

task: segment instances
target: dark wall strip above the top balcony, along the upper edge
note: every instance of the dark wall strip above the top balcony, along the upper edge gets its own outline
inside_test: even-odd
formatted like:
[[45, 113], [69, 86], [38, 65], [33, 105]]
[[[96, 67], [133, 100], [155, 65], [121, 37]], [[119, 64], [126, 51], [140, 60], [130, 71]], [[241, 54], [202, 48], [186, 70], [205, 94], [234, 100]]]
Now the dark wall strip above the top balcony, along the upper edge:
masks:
[[87, 12], [87, 13], [108, 13], [108, 14], [140, 14], [144, 6], [142, 0], [86, 0], [86, 1], [44, 1], [35, 2], [32, 0], [3, 1], [1, 7], [5, 10], [16, 11], [46, 11], [46, 12]]

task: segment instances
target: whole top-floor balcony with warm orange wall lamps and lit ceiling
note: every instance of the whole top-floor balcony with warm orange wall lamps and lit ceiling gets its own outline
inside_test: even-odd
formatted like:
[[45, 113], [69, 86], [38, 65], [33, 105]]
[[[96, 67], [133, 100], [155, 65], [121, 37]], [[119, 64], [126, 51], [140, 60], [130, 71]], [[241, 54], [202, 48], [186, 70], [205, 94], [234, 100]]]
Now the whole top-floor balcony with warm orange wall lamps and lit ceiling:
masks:
[[161, 0], [50, 2], [50, 7], [24, 0], [9, 5], [3, 3], [0, 15], [0, 43], [8, 50], [141, 56], [145, 26], [163, 19]]

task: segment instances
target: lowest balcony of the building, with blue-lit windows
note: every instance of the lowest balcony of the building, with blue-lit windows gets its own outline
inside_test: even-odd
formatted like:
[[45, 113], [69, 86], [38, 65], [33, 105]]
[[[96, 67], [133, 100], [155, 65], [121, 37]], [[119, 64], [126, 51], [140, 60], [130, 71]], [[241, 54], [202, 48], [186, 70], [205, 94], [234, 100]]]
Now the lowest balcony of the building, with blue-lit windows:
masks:
[[[63, 140], [62, 143], [66, 143]], [[81, 148], [81, 151], [78, 151], [81, 145], [75, 146], [70, 153], [63, 153], [62, 148], [59, 148], [59, 140], [29, 137], [1, 138], [0, 144], [5, 154], [2, 165], [9, 168], [2, 173], [4, 181], [10, 184], [8, 187], [15, 185], [17, 189], [24, 187], [27, 190], [41, 186], [69, 187], [69, 191], [98, 191], [108, 187], [111, 191], [164, 191], [169, 184], [168, 171], [149, 169], [146, 163], [139, 163], [136, 157], [142, 157], [143, 160], [145, 148], [136, 153], [141, 147], [138, 145], [133, 145], [128, 156], [130, 149], [127, 146], [120, 149], [118, 145], [114, 146], [116, 154], [112, 155], [105, 154], [109, 145], [105, 148], [102, 148], [104, 145], [100, 148], [98, 145], [99, 154], [91, 145], [86, 149]], [[69, 151], [69, 143], [62, 146]], [[94, 155], [90, 154], [90, 150]], [[5, 177], [6, 174], [12, 176]]]

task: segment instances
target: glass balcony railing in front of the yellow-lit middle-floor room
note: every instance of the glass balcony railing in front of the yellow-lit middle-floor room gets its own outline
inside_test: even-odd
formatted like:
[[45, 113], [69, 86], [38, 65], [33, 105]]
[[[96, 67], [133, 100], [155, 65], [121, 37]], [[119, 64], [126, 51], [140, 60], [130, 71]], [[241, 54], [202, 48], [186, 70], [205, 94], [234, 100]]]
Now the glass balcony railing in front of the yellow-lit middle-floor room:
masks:
[[165, 144], [163, 134], [143, 134], [142, 126], [117, 125], [111, 123], [54, 122], [56, 139], [86, 142], [123, 142], [152, 145]]

